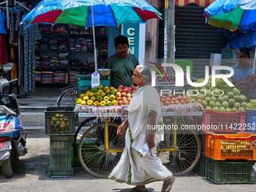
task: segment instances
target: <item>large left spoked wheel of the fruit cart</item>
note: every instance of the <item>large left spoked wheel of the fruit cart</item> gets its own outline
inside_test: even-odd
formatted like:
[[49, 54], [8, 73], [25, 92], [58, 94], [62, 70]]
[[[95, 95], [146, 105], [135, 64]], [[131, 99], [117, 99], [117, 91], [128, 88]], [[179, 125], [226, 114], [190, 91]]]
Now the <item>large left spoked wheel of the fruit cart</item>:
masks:
[[[78, 157], [81, 166], [90, 174], [107, 178], [120, 160], [125, 142], [125, 134], [117, 136], [119, 124], [108, 122], [108, 150], [105, 150], [105, 122], [90, 127], [81, 138], [78, 146]], [[115, 134], [114, 134], [115, 133]]]

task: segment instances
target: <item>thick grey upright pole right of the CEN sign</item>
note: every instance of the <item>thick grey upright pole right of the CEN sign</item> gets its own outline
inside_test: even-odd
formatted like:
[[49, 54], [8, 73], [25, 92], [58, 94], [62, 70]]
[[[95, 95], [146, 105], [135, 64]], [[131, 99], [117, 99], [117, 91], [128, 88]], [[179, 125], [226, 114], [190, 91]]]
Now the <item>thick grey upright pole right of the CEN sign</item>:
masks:
[[[164, 62], [174, 63], [174, 41], [175, 41], [175, 0], [165, 0], [164, 14]], [[166, 67], [166, 73], [172, 74], [172, 68]]]

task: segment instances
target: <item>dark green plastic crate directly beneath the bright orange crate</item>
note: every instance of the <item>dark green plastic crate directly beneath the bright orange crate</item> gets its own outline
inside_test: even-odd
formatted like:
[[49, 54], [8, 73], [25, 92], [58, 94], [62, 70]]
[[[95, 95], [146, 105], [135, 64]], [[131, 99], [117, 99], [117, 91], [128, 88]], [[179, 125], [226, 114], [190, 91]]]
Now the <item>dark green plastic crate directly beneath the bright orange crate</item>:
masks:
[[256, 161], [224, 161], [206, 157], [206, 178], [215, 184], [255, 183], [251, 177]]

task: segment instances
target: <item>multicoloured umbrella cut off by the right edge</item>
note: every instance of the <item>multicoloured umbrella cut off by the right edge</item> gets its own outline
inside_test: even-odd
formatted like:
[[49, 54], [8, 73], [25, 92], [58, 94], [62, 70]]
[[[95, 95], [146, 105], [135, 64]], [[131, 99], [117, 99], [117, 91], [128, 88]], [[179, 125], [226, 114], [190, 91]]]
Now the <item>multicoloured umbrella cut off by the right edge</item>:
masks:
[[[241, 32], [256, 32], [256, 1], [216, 0], [205, 9], [205, 17], [212, 26], [230, 29], [230, 31], [239, 29]], [[254, 45], [256, 46], [256, 44]], [[256, 54], [252, 69], [253, 74], [255, 61]]]

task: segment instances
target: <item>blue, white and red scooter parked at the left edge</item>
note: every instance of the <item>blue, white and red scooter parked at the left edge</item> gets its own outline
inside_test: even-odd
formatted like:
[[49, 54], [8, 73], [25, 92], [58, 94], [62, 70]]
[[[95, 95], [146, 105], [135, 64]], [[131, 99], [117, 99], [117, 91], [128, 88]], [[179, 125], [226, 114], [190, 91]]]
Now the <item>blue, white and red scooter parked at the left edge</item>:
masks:
[[20, 108], [17, 97], [14, 93], [4, 94], [4, 90], [10, 84], [17, 81], [8, 81], [3, 75], [12, 69], [12, 64], [4, 66], [4, 71], [0, 78], [0, 166], [6, 178], [13, 176], [11, 160], [27, 154], [26, 131], [23, 130], [20, 119]]

